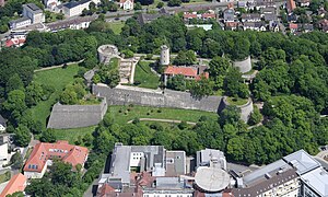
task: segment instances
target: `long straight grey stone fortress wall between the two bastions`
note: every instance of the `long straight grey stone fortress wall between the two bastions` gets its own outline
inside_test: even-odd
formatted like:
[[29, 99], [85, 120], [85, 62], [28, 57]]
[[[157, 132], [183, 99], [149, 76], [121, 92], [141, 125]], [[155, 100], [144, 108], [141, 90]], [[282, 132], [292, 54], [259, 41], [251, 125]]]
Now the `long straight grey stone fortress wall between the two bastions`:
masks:
[[218, 113], [221, 109], [221, 96], [207, 96], [195, 99], [187, 92], [172, 90], [150, 90], [133, 86], [117, 86], [110, 89], [106, 85], [93, 85], [93, 93], [107, 99], [108, 105], [145, 105], [156, 107], [174, 107], [185, 109], [199, 109]]

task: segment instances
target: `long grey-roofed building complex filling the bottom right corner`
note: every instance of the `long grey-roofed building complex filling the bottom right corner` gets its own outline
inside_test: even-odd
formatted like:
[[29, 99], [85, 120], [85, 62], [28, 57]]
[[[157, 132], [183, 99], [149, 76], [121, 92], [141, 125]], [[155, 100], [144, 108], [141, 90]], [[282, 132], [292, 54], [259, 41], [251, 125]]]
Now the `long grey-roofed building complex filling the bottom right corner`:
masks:
[[328, 172], [304, 150], [291, 153], [250, 174], [239, 177], [231, 173], [235, 187], [223, 196], [328, 196]]

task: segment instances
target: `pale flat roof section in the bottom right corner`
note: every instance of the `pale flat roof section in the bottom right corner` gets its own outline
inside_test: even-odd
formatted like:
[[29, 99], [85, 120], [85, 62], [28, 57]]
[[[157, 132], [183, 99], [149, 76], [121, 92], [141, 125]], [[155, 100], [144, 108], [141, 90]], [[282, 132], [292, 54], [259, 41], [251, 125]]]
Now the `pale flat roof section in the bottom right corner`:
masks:
[[311, 187], [319, 196], [328, 196], [328, 172], [318, 167], [301, 176], [305, 185]]

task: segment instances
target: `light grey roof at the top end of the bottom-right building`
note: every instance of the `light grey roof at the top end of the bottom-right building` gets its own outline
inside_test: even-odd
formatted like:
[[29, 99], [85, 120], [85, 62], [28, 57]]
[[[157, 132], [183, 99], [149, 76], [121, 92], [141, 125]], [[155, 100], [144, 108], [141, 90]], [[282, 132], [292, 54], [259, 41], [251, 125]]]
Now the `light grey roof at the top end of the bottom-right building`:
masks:
[[313, 159], [313, 157], [303, 149], [284, 157], [283, 160], [296, 167], [296, 172], [300, 175], [320, 166], [320, 163]]

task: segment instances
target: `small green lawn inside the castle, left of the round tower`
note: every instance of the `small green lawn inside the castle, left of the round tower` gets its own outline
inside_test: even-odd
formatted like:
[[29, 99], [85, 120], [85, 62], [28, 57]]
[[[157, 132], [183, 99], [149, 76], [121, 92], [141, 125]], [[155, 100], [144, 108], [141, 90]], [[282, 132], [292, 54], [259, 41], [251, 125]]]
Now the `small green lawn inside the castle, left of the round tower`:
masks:
[[157, 89], [160, 78], [151, 71], [149, 65], [150, 62], [139, 61], [136, 66], [134, 82], [140, 82], [140, 88]]

